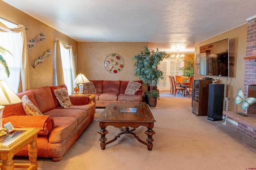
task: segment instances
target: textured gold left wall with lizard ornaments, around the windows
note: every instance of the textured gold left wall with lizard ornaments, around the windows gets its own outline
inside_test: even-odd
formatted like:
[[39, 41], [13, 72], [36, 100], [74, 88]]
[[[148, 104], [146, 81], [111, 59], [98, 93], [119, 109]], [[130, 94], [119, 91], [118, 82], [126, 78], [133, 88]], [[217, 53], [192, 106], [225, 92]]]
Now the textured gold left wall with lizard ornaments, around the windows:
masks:
[[[40, 33], [44, 33], [46, 37], [46, 39], [35, 45], [34, 48], [28, 50], [30, 89], [56, 85], [55, 41], [58, 39], [68, 45], [72, 45], [74, 47], [73, 51], [76, 53], [78, 53], [78, 42], [1, 0], [0, 11], [2, 18], [28, 27], [28, 30], [26, 30], [27, 42], [30, 39], [34, 39]], [[53, 54], [40, 66], [34, 68], [34, 61], [44, 55], [48, 49]]]

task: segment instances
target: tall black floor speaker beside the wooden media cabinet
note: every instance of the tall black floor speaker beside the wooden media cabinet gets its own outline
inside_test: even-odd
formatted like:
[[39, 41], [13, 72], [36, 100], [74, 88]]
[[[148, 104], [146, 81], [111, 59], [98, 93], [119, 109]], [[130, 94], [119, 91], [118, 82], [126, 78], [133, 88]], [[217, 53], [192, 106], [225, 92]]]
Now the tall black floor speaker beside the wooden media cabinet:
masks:
[[222, 120], [224, 84], [209, 84], [208, 113], [210, 121]]

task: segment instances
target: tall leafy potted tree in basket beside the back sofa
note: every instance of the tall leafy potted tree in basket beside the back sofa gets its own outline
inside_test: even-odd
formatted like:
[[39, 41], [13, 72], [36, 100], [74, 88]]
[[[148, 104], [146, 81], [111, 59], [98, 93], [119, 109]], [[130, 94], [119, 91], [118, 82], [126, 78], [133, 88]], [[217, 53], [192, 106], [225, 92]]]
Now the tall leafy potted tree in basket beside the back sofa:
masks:
[[157, 69], [160, 61], [169, 57], [165, 51], [156, 51], [144, 47], [144, 51], [135, 55], [132, 60], [136, 60], [134, 66], [134, 75], [138, 76], [144, 83], [150, 85], [150, 91], [145, 92], [146, 101], [151, 107], [156, 106], [156, 101], [159, 99], [159, 93], [157, 90], [153, 90], [153, 86], [157, 86], [160, 78], [163, 79], [163, 73]]

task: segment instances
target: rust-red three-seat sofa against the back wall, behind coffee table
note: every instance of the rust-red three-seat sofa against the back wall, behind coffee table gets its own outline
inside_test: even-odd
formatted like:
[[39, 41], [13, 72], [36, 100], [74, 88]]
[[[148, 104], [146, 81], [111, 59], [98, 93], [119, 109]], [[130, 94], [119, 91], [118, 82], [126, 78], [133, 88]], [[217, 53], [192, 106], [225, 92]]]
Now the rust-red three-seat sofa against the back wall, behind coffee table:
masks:
[[[121, 80], [90, 80], [93, 82], [96, 90], [96, 107], [106, 107], [110, 103], [115, 104], [141, 104], [144, 91], [141, 86], [134, 95], [124, 94], [129, 81]], [[136, 80], [142, 84], [142, 80]]]

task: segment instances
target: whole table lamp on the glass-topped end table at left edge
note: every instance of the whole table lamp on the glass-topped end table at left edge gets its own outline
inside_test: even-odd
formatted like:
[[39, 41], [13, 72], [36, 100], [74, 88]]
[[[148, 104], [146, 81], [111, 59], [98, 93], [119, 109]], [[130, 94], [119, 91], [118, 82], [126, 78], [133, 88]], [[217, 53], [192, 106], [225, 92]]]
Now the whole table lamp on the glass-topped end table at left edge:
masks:
[[7, 134], [2, 131], [4, 111], [4, 106], [2, 105], [17, 104], [20, 102], [20, 98], [12, 91], [12, 89], [10, 89], [3, 80], [0, 80], [0, 137]]

